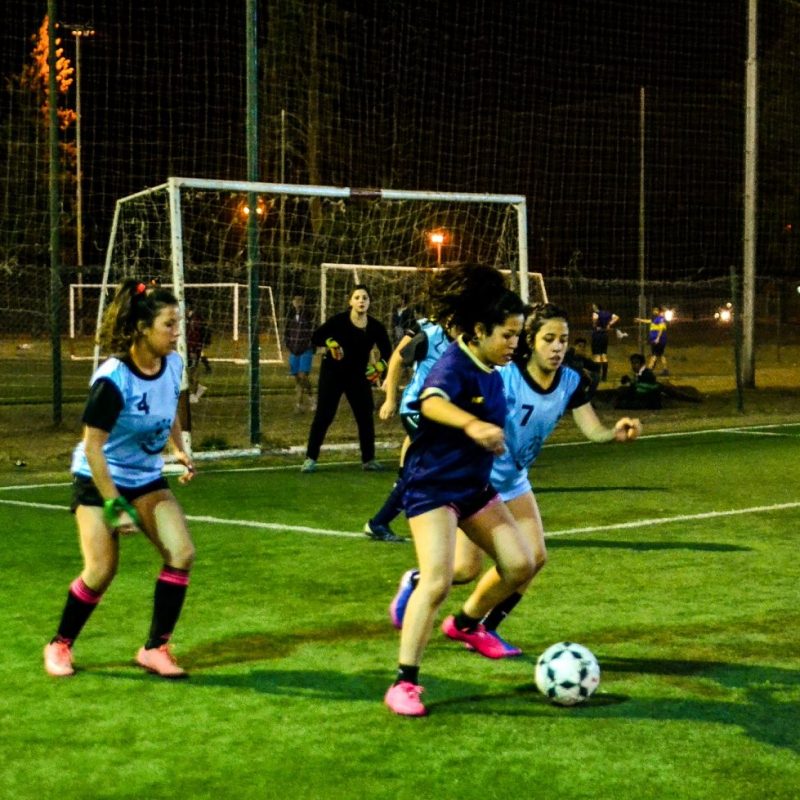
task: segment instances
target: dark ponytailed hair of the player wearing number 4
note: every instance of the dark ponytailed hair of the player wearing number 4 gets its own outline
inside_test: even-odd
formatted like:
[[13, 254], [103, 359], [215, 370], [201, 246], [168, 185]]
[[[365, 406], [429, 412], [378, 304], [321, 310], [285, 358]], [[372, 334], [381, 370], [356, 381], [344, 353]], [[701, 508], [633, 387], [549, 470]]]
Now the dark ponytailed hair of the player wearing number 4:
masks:
[[177, 305], [177, 298], [168, 289], [126, 278], [117, 286], [103, 314], [98, 342], [106, 352], [122, 355], [136, 341], [142, 328], [152, 326], [163, 308]]

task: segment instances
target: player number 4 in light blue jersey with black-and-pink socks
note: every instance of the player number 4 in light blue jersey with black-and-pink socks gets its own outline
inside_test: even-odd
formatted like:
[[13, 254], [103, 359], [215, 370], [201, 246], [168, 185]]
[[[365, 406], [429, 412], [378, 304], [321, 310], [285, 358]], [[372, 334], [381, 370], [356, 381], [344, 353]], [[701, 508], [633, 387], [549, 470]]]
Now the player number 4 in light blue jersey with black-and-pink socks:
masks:
[[169, 649], [180, 616], [194, 545], [186, 519], [161, 476], [161, 451], [169, 442], [194, 476], [177, 415], [183, 363], [175, 296], [127, 279], [103, 319], [100, 343], [116, 355], [92, 377], [83, 414], [83, 440], [72, 461], [72, 511], [84, 566], [69, 587], [56, 635], [45, 646], [45, 670], [75, 673], [72, 645], [110, 586], [119, 563], [119, 537], [141, 531], [164, 563], [156, 581], [150, 634], [136, 663], [164, 678], [183, 678]]

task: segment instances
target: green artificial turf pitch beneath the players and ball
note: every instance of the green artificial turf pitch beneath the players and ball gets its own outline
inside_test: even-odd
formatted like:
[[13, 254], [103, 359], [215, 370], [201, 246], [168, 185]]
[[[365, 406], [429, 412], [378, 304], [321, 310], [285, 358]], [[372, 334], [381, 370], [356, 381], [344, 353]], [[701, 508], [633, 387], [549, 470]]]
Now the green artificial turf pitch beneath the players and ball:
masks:
[[[503, 627], [525, 655], [489, 661], [435, 631], [419, 720], [382, 704], [413, 547], [360, 533], [391, 472], [262, 460], [176, 486], [198, 557], [174, 638], [191, 677], [174, 683], [133, 665], [159, 568], [141, 537], [77, 675], [44, 673], [80, 556], [67, 476], [27, 476], [0, 489], [0, 797], [795, 800], [798, 444], [800, 426], [546, 447], [549, 562]], [[533, 688], [561, 639], [600, 662], [583, 706]]]

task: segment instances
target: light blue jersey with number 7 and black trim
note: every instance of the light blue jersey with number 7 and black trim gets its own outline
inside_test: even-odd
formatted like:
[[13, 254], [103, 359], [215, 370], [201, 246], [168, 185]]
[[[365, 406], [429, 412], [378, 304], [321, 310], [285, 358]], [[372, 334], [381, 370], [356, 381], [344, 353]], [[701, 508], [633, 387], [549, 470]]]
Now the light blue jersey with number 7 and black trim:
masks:
[[495, 456], [492, 486], [503, 500], [531, 491], [528, 470], [542, 445], [568, 409], [591, 400], [588, 382], [570, 367], [561, 366], [549, 389], [542, 389], [515, 363], [500, 367], [508, 415], [504, 426], [506, 450]]

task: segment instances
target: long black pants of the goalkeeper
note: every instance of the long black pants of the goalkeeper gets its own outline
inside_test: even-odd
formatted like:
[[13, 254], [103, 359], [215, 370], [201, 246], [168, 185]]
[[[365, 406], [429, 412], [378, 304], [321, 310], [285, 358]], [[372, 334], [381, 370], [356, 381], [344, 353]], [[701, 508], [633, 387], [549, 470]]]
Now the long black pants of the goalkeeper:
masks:
[[321, 369], [319, 374], [319, 389], [317, 397], [317, 411], [311, 423], [308, 434], [308, 447], [306, 458], [319, 458], [322, 442], [328, 432], [342, 395], [347, 398], [353, 416], [358, 426], [358, 443], [361, 447], [361, 460], [366, 463], [375, 458], [375, 420], [373, 413], [375, 403], [372, 399], [372, 387], [363, 376], [355, 376], [347, 380], [346, 377], [331, 374], [326, 369]]

